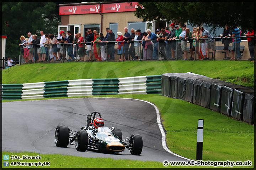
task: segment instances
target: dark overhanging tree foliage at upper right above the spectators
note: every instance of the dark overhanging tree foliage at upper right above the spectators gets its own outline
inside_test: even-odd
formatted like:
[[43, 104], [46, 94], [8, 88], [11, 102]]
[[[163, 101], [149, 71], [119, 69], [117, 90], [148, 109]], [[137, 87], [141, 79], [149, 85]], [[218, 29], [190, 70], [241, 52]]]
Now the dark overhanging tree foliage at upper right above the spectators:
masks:
[[234, 24], [244, 31], [254, 28], [254, 5], [251, 2], [139, 2], [135, 16], [146, 21], [206, 24], [213, 30]]

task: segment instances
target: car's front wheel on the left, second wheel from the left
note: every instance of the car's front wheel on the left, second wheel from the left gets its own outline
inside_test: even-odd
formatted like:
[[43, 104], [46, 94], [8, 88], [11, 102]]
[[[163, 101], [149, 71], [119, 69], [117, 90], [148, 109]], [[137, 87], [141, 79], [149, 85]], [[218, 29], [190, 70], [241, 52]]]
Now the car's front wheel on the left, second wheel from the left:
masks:
[[88, 147], [88, 134], [85, 130], [76, 133], [75, 147], [77, 151], [85, 152]]

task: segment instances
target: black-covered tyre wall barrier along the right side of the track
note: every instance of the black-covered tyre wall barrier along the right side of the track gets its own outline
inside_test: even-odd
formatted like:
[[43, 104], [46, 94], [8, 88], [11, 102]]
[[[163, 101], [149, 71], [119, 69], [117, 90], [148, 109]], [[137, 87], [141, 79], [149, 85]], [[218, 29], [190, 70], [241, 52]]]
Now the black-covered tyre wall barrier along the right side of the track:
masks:
[[193, 73], [165, 73], [162, 96], [177, 98], [254, 124], [254, 89]]

